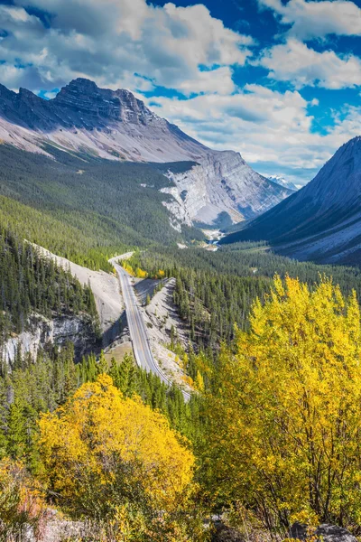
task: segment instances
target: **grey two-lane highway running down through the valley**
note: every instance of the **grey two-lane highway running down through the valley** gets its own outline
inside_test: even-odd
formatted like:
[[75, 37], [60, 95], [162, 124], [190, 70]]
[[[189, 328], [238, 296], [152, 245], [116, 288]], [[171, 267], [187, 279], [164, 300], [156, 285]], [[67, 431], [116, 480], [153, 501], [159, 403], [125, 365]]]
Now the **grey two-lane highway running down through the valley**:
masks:
[[[145, 369], [147, 372], [153, 372], [159, 378], [161, 378], [162, 382], [165, 382], [165, 384], [171, 386], [171, 380], [163, 374], [162, 370], [153, 359], [148, 333], [146, 332], [145, 324], [143, 321], [143, 314], [137, 304], [137, 300], [134, 294], [134, 288], [130, 282], [130, 276], [125, 271], [125, 269], [123, 269], [122, 266], [119, 266], [116, 263], [115, 260], [118, 259], [119, 257], [112, 258], [109, 261], [116, 268], [116, 273], [118, 274], [120, 286], [122, 288], [125, 302], [126, 320], [128, 322], [130, 337], [133, 343], [136, 363], [139, 367]], [[186, 401], [189, 401], [190, 393], [184, 390], [181, 390], [181, 392], [184, 399]]]

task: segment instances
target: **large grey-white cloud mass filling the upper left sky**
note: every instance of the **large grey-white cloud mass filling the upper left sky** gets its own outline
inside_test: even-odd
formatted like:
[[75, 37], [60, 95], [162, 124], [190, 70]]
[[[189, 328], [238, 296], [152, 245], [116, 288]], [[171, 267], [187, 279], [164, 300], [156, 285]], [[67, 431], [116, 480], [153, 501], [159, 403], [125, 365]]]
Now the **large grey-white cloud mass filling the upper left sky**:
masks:
[[[212, 17], [204, 5], [156, 7], [145, 0], [14, 4], [0, 6], [5, 31], [0, 60], [20, 67], [3, 79], [13, 88], [19, 83], [34, 90], [53, 89], [69, 79], [89, 77], [113, 88], [159, 85], [186, 94], [232, 92], [231, 66], [243, 65], [253, 44], [251, 37]], [[45, 10], [49, 27], [25, 7]]]

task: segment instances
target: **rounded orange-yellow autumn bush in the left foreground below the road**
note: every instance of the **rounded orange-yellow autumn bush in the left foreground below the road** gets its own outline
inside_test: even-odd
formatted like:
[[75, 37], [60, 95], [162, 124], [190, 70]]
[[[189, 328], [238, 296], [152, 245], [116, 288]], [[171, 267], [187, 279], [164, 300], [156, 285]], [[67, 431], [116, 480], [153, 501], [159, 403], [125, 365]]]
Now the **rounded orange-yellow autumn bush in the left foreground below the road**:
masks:
[[44, 414], [40, 433], [48, 488], [69, 515], [108, 519], [123, 535], [136, 532], [119, 540], [150, 539], [151, 532], [189, 539], [183, 524], [193, 454], [164, 416], [139, 398], [124, 398], [110, 377], [100, 375]]

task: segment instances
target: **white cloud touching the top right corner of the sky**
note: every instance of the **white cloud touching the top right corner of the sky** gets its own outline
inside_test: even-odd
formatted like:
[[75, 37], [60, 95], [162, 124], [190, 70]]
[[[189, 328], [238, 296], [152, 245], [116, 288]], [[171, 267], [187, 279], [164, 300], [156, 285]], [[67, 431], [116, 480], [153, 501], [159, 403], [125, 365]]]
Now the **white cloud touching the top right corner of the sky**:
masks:
[[290, 35], [300, 40], [324, 38], [329, 34], [361, 35], [361, 9], [350, 0], [322, 2], [258, 0], [280, 16], [281, 23], [291, 24]]

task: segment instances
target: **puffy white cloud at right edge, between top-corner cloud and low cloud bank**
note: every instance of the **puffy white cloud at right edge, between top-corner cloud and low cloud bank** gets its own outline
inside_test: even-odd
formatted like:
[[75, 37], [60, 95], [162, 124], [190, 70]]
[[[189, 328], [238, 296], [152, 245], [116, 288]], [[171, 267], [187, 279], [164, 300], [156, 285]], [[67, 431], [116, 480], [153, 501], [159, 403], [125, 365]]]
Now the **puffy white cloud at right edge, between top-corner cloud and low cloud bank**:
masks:
[[318, 52], [290, 38], [265, 50], [258, 61], [270, 70], [269, 78], [291, 81], [296, 88], [317, 85], [324, 89], [347, 89], [361, 85], [361, 61], [354, 55]]

